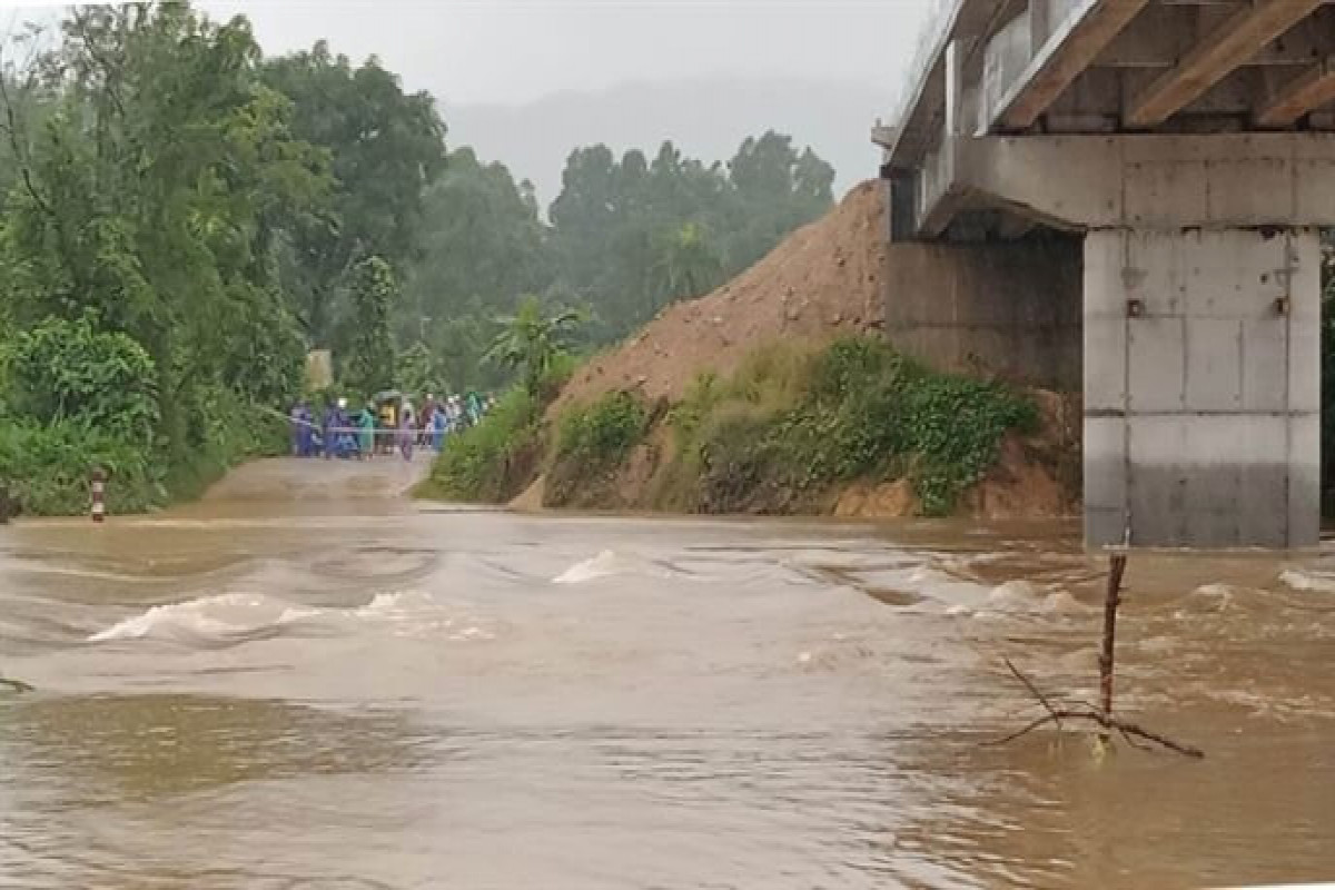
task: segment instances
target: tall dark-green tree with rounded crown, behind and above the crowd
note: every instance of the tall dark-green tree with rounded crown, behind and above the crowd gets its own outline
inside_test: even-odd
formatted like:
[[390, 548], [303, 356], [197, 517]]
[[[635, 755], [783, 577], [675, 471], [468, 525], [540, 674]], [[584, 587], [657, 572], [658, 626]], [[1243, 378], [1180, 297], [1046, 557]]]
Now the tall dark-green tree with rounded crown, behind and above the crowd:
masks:
[[339, 328], [348, 270], [379, 256], [396, 275], [419, 250], [423, 189], [445, 168], [445, 124], [426, 92], [405, 93], [375, 57], [354, 68], [322, 40], [264, 64], [263, 79], [294, 104], [292, 132], [324, 149], [332, 205], [286, 232], [286, 282], [312, 342]]

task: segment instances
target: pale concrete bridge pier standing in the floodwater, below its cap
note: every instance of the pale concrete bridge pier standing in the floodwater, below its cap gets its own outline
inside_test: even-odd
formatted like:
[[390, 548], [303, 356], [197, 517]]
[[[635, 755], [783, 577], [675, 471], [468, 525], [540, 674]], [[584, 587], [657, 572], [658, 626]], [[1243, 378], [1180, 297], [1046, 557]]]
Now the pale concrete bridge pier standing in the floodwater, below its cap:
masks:
[[1089, 544], [1318, 540], [1312, 230], [1092, 230], [1084, 246]]

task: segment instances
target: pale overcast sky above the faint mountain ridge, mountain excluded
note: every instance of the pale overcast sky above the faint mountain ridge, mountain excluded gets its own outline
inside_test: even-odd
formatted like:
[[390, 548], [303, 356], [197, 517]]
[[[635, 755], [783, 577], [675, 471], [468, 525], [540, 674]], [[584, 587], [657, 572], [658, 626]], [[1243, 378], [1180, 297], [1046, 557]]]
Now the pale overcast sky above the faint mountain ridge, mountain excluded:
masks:
[[[327, 37], [450, 104], [692, 75], [856, 79], [892, 89], [933, 0], [203, 0], [267, 52]], [[0, 7], [41, 4], [0, 0]], [[61, 4], [44, 4], [61, 5]]]

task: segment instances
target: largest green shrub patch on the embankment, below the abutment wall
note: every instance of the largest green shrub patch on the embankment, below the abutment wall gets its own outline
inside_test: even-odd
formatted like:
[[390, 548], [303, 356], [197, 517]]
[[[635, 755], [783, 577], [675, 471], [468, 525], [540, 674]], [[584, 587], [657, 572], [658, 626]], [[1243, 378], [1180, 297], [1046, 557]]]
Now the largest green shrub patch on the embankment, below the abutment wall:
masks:
[[665, 506], [801, 512], [837, 483], [908, 474], [922, 512], [945, 515], [996, 460], [1001, 435], [1031, 430], [1036, 411], [1000, 386], [852, 338], [816, 354], [761, 348], [725, 383], [697, 379], [669, 422]]

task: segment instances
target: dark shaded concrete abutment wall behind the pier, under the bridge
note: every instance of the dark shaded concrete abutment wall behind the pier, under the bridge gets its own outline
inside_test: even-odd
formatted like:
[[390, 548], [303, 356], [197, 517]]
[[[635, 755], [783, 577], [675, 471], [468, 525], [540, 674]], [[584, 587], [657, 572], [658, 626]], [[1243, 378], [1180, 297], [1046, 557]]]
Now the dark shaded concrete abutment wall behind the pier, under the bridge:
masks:
[[1080, 390], [1080, 239], [889, 244], [885, 332], [941, 371]]

